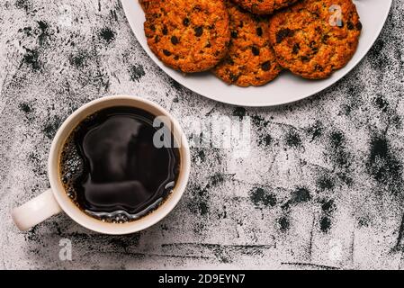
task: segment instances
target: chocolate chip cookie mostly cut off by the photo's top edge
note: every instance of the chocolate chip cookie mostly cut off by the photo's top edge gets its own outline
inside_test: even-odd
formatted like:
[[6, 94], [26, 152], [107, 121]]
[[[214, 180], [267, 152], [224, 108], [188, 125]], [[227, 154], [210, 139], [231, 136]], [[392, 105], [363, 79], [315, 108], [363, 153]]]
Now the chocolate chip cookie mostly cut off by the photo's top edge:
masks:
[[273, 14], [275, 10], [294, 4], [299, 0], [232, 0], [253, 14]]

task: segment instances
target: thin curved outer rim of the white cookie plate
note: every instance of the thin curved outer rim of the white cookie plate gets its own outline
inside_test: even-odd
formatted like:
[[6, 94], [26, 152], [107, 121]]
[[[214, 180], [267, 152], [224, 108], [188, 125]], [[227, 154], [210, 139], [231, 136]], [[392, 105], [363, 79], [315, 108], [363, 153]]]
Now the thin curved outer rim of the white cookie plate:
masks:
[[[195, 94], [199, 94], [202, 97], [211, 99], [212, 101], [218, 102], [218, 103], [225, 103], [225, 104], [229, 104], [229, 105], [233, 105], [233, 106], [238, 106], [238, 107], [276, 107], [276, 106], [282, 106], [282, 105], [287, 105], [287, 104], [291, 104], [291, 103], [296, 103], [299, 101], [302, 101], [304, 99], [308, 99], [312, 96], [315, 96], [317, 94], [319, 94], [320, 92], [328, 89], [329, 87], [336, 85], [339, 81], [341, 81], [345, 76], [347, 76], [349, 73], [351, 73], [351, 71], [358, 66], [358, 64], [360, 62], [362, 62], [362, 60], [366, 57], [366, 55], [369, 53], [370, 49], [373, 48], [374, 43], [376, 42], [376, 40], [378, 40], [380, 38], [380, 35], [382, 33], [382, 30], [384, 28], [384, 26], [386, 25], [387, 19], [389, 17], [389, 14], [391, 12], [391, 6], [392, 6], [392, 2], [393, 0], [383, 0], [383, 1], [390, 1], [389, 3], [389, 8], [386, 10], [386, 14], [382, 15], [382, 25], [378, 28], [377, 30], [377, 37], [374, 37], [374, 39], [371, 42], [371, 45], [369, 45], [368, 48], [364, 49], [364, 56], [361, 58], [357, 58], [357, 59], [351, 59], [351, 65], [352, 67], [349, 67], [346, 69], [346, 71], [344, 73], [342, 73], [341, 75], [337, 76], [337, 78], [335, 79], [335, 81], [333, 83], [331, 83], [330, 85], [327, 85], [325, 87], [319, 87], [318, 89], [316, 89], [314, 92], [310, 92], [310, 93], [306, 93], [306, 94], [300, 94], [299, 96], [295, 96], [292, 98], [288, 98], [287, 100], [284, 101], [275, 101], [274, 103], [245, 103], [243, 101], [238, 102], [238, 103], [233, 103], [230, 102], [229, 100], [221, 100], [219, 97], [212, 97], [210, 94], [205, 94], [202, 91], [199, 91], [198, 88], [194, 88], [194, 87], [190, 87], [189, 85], [184, 85], [181, 81], [178, 79], [177, 76], [173, 75], [171, 72], [171, 68], [170, 67], [166, 67], [166, 65], [161, 62], [160, 60], [158, 60], [158, 58], [156, 58], [156, 56], [151, 52], [151, 50], [148, 49], [147, 43], [142, 43], [136, 33], [135, 28], [133, 27], [133, 24], [130, 21], [130, 17], [128, 16], [129, 14], [129, 2], [130, 1], [138, 1], [138, 0], [121, 0], [121, 5], [123, 8], [123, 12], [125, 14], [126, 20], [130, 25], [130, 30], [132, 31], [133, 35], [135, 36], [136, 40], [138, 41], [139, 45], [141, 46], [141, 48], [146, 52], [146, 54], [148, 55], [148, 58], [151, 58], [151, 60], [157, 65], [157, 67], [159, 67], [161, 70], [163, 70], [163, 72], [169, 76], [170, 78], [174, 79], [176, 82], [178, 82], [180, 85], [184, 86], [185, 88], [189, 89], [190, 91], [193, 91], [193, 93]], [[256, 87], [255, 87], [256, 88]], [[259, 87], [258, 87], [259, 88]], [[246, 98], [247, 101], [247, 98]]]

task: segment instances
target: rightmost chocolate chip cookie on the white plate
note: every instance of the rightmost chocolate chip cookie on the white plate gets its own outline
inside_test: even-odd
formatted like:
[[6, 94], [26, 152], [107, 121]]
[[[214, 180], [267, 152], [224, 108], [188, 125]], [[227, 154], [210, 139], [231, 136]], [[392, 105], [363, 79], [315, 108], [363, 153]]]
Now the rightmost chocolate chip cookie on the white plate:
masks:
[[321, 79], [355, 54], [362, 24], [352, 0], [303, 0], [275, 14], [269, 31], [281, 66]]

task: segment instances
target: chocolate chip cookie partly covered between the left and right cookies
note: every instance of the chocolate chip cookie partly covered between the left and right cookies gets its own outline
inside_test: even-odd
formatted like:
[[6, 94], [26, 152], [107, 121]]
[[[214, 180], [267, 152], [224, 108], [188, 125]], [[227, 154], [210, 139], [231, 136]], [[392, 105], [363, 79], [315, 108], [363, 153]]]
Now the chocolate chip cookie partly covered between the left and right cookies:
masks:
[[279, 75], [269, 43], [268, 18], [258, 17], [228, 3], [231, 41], [229, 53], [213, 72], [223, 81], [239, 86], [265, 85]]

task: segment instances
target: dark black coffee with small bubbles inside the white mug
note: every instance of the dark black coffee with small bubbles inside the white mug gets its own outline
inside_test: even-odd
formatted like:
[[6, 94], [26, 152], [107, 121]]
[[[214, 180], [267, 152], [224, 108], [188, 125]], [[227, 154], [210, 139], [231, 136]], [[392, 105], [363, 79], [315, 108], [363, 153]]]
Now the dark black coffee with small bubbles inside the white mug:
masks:
[[154, 120], [143, 110], [114, 107], [73, 130], [60, 156], [60, 176], [81, 210], [99, 220], [126, 222], [166, 200], [178, 178], [180, 154], [174, 143], [156, 148]]

